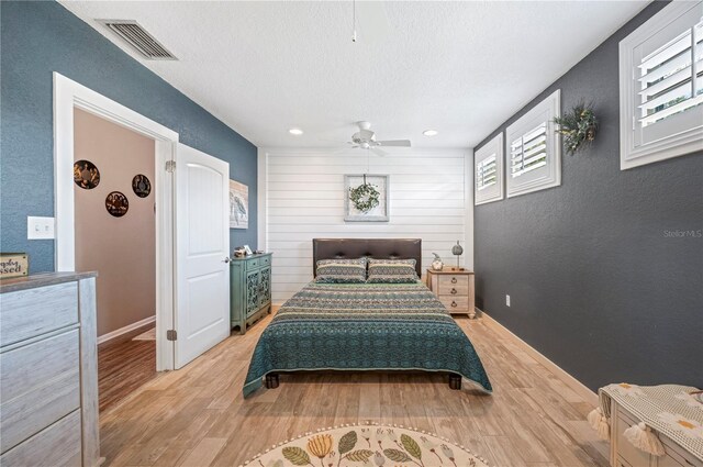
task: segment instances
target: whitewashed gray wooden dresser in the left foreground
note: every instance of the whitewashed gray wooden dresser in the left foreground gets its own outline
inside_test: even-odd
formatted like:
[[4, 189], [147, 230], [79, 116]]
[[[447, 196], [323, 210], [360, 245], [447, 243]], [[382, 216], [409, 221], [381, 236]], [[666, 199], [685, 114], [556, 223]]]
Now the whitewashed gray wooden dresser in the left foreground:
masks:
[[0, 465], [100, 460], [96, 274], [0, 281]]

